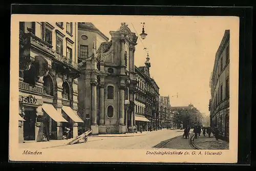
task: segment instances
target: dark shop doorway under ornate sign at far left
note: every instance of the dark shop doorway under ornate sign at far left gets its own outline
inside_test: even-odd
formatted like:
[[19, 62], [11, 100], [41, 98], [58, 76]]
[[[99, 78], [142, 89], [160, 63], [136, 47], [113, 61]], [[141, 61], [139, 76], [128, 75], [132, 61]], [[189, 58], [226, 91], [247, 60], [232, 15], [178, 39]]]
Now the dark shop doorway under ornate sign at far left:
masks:
[[35, 140], [35, 123], [36, 123], [36, 112], [35, 109], [25, 109], [24, 116], [24, 140]]

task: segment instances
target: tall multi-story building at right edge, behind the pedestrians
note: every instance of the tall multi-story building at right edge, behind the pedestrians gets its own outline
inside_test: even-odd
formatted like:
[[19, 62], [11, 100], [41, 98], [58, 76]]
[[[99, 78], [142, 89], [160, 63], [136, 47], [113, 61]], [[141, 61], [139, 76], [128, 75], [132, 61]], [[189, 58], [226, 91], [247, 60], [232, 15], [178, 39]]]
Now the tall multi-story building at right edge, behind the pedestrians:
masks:
[[229, 30], [225, 30], [216, 52], [210, 81], [210, 125], [218, 127], [225, 140], [229, 137]]

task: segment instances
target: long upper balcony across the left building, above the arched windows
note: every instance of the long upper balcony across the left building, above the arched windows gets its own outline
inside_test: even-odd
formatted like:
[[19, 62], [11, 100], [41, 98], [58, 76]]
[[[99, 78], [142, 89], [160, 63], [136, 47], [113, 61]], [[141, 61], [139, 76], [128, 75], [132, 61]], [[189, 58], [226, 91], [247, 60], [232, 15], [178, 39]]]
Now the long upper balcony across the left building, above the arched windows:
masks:
[[32, 33], [24, 33], [22, 30], [19, 30], [19, 42], [20, 46], [22, 47], [30, 45], [33, 48], [41, 51], [42, 53], [48, 54], [61, 64], [79, 71], [78, 64], [75, 61], [68, 59], [66, 56], [62, 54], [59, 54], [58, 52], [52, 49], [53, 46], [51, 44], [35, 36]]

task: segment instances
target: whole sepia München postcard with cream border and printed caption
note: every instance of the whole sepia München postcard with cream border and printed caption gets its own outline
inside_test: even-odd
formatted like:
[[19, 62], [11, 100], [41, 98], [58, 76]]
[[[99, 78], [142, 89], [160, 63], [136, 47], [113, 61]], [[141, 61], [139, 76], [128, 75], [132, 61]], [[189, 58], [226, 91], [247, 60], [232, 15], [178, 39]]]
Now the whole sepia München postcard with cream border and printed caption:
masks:
[[238, 17], [14, 15], [12, 26], [10, 160], [236, 162]]

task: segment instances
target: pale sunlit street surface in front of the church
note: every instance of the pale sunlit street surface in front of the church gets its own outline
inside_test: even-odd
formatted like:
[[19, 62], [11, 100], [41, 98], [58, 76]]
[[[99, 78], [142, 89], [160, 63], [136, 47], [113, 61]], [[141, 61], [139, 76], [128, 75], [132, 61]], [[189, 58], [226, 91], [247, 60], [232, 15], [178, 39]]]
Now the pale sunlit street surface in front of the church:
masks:
[[[136, 133], [135, 133], [136, 134]], [[141, 134], [138, 132], [137, 134]], [[154, 148], [153, 146], [162, 141], [174, 138], [183, 134], [183, 130], [160, 130], [147, 132], [141, 136], [130, 137], [93, 137], [90, 136], [86, 143], [56, 146], [54, 148], [97, 148], [97, 149], [143, 149]]]

